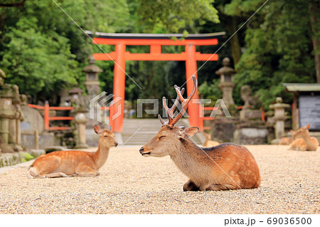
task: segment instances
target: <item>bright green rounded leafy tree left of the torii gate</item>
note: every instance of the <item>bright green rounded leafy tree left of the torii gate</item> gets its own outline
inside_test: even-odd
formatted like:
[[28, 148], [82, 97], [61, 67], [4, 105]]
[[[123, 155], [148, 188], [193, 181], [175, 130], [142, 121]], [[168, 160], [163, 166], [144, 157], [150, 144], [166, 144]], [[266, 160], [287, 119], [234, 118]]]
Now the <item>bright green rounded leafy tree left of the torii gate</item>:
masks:
[[54, 31], [44, 35], [37, 31], [37, 22], [34, 17], [20, 20], [5, 33], [0, 67], [22, 93], [48, 97], [58, 84], [76, 83], [78, 62], [70, 53], [68, 38]]

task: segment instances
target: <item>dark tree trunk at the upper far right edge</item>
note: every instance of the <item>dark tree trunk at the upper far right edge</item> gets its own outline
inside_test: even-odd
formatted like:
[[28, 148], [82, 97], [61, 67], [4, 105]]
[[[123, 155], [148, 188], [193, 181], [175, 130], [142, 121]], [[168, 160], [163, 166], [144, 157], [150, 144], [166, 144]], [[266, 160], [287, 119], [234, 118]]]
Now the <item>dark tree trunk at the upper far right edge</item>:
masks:
[[310, 4], [312, 44], [314, 46], [314, 60], [316, 65], [316, 82], [320, 83], [320, 39], [319, 39], [319, 12], [320, 1], [313, 1]]

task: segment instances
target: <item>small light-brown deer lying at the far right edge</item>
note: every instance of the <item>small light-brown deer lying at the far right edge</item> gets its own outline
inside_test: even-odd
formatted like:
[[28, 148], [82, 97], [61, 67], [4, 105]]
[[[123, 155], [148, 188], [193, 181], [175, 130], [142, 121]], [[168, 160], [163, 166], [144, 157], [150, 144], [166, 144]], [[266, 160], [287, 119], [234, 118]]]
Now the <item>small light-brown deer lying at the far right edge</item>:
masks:
[[299, 128], [295, 136], [301, 138], [294, 139], [289, 149], [297, 149], [299, 151], [316, 151], [316, 149], [318, 149], [318, 139], [316, 139], [316, 137], [310, 137], [309, 128], [310, 124]]

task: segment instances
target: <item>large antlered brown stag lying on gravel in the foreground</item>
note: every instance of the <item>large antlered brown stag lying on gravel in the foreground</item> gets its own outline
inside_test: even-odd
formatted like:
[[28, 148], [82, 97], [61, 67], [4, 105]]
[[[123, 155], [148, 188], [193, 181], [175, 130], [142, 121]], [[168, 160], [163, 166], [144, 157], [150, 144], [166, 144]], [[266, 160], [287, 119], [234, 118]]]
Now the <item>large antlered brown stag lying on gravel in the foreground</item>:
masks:
[[[187, 99], [184, 89], [176, 85], [177, 98], [169, 108], [166, 98], [163, 103], [168, 120], [161, 130], [139, 150], [144, 157], [164, 157], [169, 155], [178, 169], [188, 176], [183, 191], [251, 189], [260, 185], [260, 173], [252, 154], [242, 146], [225, 143], [217, 147], [201, 148], [190, 137], [198, 132], [198, 127], [176, 127], [176, 123], [186, 112], [188, 103], [196, 93], [197, 80], [193, 75], [193, 90]], [[181, 100], [182, 110], [174, 117], [174, 109]]]

